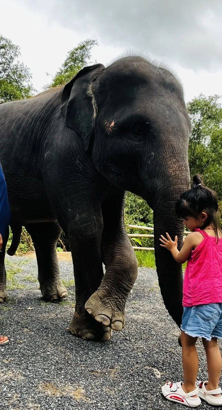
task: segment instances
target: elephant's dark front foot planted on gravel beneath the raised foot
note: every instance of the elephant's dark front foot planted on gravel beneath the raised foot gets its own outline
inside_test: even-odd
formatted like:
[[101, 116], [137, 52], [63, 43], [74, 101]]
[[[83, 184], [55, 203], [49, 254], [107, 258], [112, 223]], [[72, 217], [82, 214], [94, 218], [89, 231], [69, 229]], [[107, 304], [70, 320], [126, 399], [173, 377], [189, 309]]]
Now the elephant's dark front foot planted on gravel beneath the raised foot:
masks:
[[86, 311], [75, 312], [73, 319], [69, 324], [69, 330], [72, 335], [81, 337], [86, 340], [110, 340], [113, 331], [98, 323]]

